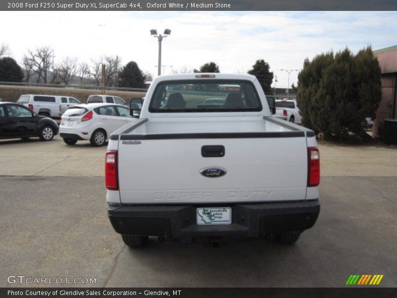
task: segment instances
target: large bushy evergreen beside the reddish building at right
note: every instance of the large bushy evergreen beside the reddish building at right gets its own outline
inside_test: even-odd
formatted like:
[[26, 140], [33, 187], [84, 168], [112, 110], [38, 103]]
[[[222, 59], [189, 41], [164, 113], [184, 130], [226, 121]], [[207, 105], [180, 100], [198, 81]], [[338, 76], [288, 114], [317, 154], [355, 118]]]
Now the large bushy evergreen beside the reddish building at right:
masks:
[[347, 48], [305, 60], [297, 98], [303, 125], [326, 139], [367, 139], [363, 123], [381, 101], [381, 69], [371, 47], [353, 55]]

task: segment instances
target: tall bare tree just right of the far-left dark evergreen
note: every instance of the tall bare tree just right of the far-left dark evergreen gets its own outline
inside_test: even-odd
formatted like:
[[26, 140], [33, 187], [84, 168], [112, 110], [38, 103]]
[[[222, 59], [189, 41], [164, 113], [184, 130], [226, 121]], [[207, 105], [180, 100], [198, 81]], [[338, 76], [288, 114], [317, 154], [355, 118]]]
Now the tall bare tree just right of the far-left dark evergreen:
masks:
[[37, 74], [36, 82], [40, 82], [43, 79], [44, 83], [47, 83], [47, 75], [50, 70], [51, 55], [53, 50], [50, 47], [37, 48], [35, 52], [28, 50], [28, 55], [24, 57], [28, 60], [28, 63], [32, 65], [32, 71]]

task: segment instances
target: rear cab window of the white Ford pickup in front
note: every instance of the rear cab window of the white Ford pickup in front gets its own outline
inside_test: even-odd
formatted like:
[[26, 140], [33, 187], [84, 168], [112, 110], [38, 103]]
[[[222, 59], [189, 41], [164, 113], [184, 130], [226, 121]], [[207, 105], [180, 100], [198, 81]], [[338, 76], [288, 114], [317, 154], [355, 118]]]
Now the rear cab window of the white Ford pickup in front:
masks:
[[199, 79], [160, 82], [149, 105], [151, 113], [262, 111], [251, 81]]

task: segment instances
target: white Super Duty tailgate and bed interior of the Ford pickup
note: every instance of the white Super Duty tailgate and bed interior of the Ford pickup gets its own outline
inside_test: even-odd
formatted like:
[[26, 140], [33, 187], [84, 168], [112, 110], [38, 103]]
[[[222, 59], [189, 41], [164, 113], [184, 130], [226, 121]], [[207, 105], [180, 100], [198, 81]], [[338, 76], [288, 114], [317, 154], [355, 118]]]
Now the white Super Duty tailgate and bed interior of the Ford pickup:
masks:
[[[211, 130], [210, 124], [205, 128], [183, 120], [173, 124], [149, 121], [134, 131], [135, 135], [121, 135], [118, 149], [121, 203], [305, 200], [305, 134], [263, 119], [231, 121], [224, 119]], [[177, 133], [178, 127], [184, 134]], [[203, 146], [223, 146], [224, 154], [204, 157]], [[201, 174], [208, 168], [226, 173], [217, 177]]]

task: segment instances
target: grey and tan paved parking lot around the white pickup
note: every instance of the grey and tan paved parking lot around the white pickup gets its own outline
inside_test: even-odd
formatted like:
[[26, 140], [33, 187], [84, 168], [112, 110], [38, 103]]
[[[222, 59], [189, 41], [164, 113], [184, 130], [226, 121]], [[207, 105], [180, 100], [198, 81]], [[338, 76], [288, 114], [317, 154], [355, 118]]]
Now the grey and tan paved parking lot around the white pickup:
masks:
[[151, 238], [132, 250], [107, 218], [106, 147], [0, 141], [0, 287], [49, 286], [8, 283], [17, 275], [62, 287], [341, 287], [351, 274], [383, 274], [380, 286], [396, 287], [396, 147], [319, 148], [322, 210], [296, 244]]

